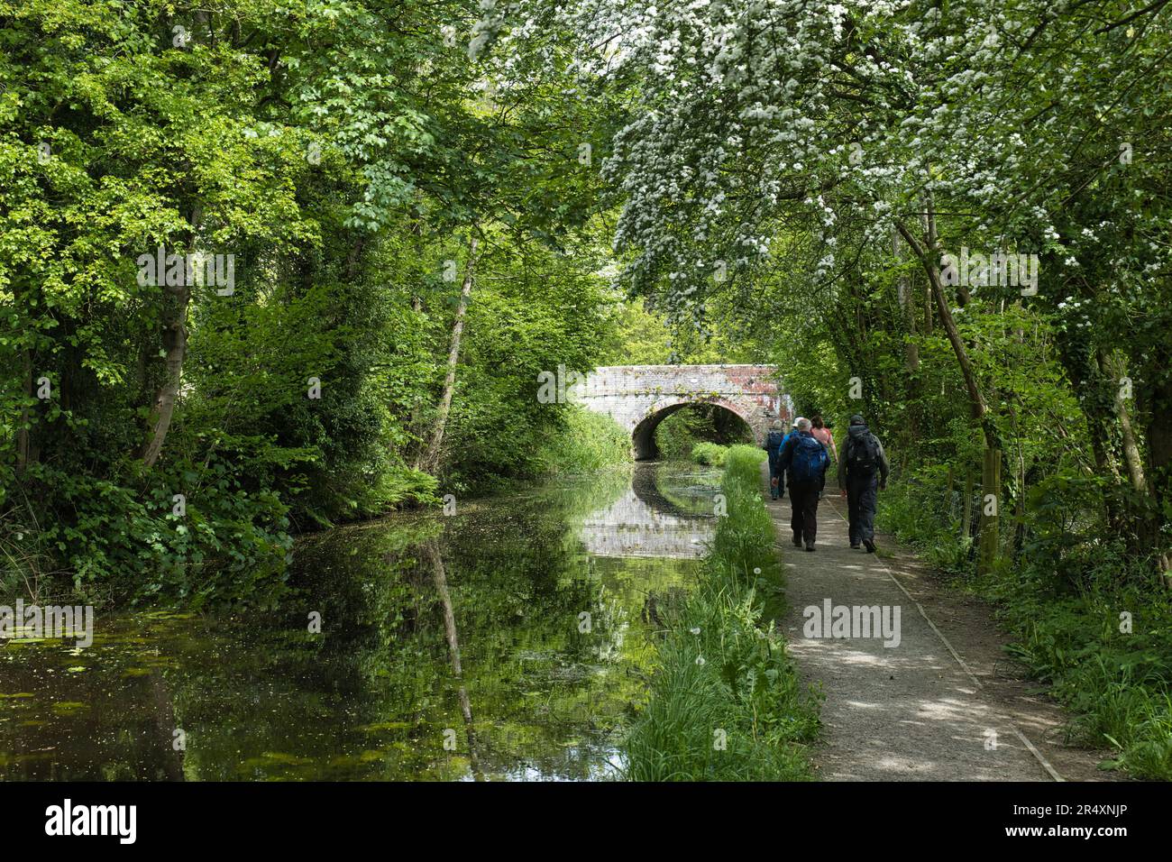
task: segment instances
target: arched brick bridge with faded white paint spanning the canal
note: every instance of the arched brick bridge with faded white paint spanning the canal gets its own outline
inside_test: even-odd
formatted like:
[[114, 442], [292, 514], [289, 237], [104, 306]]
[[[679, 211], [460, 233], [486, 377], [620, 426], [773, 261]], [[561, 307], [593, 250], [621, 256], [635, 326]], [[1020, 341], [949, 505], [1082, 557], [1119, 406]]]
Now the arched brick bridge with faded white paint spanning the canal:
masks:
[[655, 456], [655, 428], [688, 405], [715, 405], [740, 416], [759, 443], [769, 423], [793, 408], [770, 378], [771, 365], [614, 365], [597, 368], [577, 401], [629, 434], [636, 459]]

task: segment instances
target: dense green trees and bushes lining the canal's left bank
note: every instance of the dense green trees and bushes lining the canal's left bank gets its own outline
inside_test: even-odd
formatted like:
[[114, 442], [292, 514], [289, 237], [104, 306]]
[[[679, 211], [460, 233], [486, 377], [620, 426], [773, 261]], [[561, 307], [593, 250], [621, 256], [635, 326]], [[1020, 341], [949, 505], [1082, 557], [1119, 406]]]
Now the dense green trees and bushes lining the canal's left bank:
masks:
[[[607, 96], [564, 97], [553, 27], [469, 62], [443, 29], [478, 14], [0, 0], [6, 589], [265, 604], [294, 531], [616, 460], [597, 423], [558, 449], [581, 421], [534, 398], [615, 326], [574, 157]], [[232, 290], [142, 278], [159, 246], [232, 256]]]

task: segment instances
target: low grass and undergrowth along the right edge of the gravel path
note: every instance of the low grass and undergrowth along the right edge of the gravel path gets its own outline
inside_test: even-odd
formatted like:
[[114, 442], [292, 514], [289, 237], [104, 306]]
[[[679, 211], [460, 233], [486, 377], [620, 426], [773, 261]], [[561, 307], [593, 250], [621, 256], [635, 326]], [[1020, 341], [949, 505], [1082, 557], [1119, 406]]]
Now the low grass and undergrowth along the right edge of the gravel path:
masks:
[[1023, 552], [1014, 559], [1007, 536], [1004, 558], [977, 577], [945, 496], [931, 469], [892, 483], [880, 524], [995, 604], [1014, 638], [1008, 652], [1071, 711], [1070, 741], [1115, 749], [1106, 767], [1172, 779], [1172, 599], [1154, 573], [1136, 571], [1117, 538], [1050, 529], [1042, 510]]

